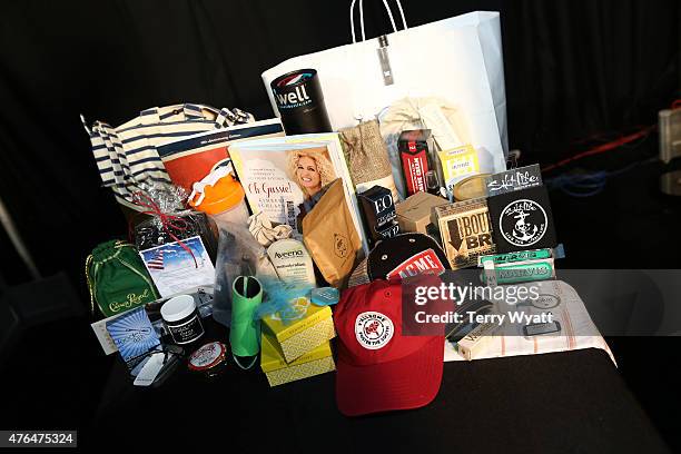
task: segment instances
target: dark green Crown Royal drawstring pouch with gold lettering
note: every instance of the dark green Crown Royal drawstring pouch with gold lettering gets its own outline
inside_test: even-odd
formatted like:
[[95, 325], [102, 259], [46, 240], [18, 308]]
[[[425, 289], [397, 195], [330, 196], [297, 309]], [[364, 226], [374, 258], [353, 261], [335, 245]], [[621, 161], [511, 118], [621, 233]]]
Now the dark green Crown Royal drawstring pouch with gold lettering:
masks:
[[111, 240], [97, 246], [86, 260], [90, 304], [105, 317], [121, 314], [158, 299], [156, 287], [137, 249]]

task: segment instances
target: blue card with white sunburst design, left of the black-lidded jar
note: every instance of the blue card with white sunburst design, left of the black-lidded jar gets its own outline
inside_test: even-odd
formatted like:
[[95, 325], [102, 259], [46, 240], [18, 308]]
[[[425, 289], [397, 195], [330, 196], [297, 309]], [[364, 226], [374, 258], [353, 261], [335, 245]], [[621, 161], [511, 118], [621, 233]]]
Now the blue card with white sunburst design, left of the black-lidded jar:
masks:
[[107, 322], [107, 330], [126, 363], [160, 345], [158, 334], [144, 307]]

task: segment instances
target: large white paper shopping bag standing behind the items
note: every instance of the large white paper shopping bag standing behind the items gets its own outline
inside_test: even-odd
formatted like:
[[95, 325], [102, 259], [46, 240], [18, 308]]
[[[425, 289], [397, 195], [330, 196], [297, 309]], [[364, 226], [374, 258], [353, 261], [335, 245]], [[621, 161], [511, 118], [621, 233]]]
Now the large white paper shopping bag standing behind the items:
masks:
[[[391, 22], [395, 24], [392, 14]], [[334, 130], [355, 126], [359, 119], [381, 120], [386, 109], [405, 99], [415, 103], [412, 110], [423, 120], [428, 117], [424, 100], [437, 100], [456, 112], [456, 136], [483, 154], [481, 171], [505, 170], [509, 146], [499, 13], [471, 12], [409, 29], [403, 24], [404, 30], [295, 57], [263, 72], [275, 112], [272, 80], [313, 68]], [[406, 117], [408, 129], [411, 117]], [[394, 161], [396, 148], [391, 142], [396, 138], [388, 135], [384, 139]]]

